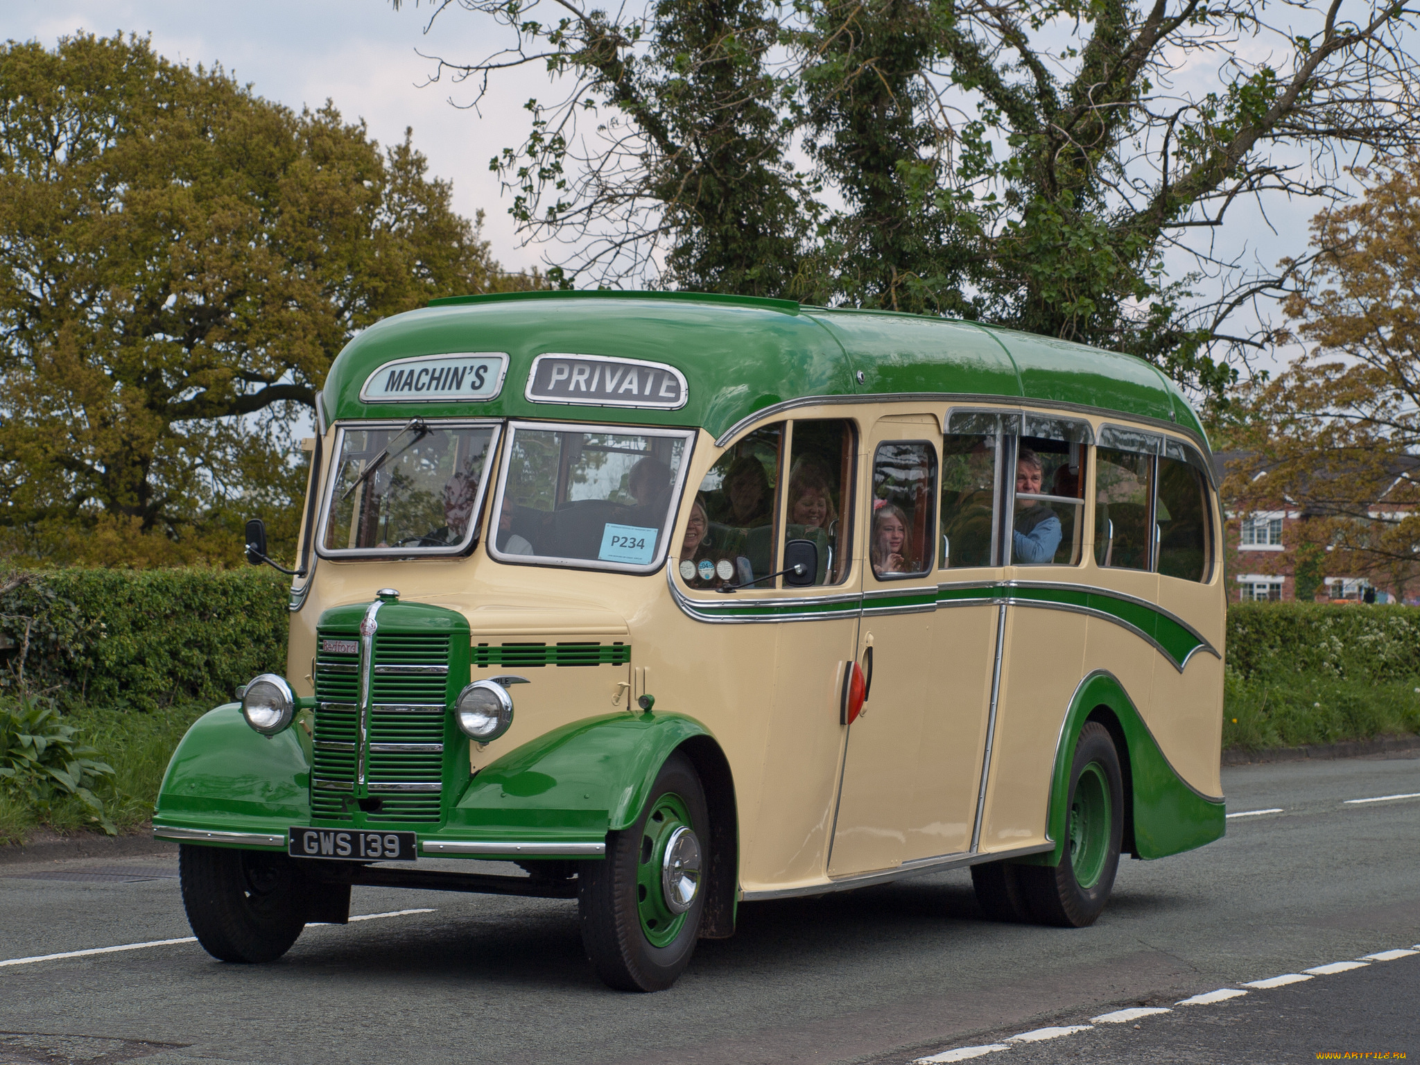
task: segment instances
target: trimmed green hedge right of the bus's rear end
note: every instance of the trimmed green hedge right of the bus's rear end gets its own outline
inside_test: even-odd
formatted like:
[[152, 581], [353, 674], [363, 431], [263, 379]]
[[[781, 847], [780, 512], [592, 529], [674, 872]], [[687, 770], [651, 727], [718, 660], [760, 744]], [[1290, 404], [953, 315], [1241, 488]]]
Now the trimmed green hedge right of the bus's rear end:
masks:
[[1420, 609], [1329, 604], [1228, 608], [1228, 667], [1244, 680], [1420, 676]]

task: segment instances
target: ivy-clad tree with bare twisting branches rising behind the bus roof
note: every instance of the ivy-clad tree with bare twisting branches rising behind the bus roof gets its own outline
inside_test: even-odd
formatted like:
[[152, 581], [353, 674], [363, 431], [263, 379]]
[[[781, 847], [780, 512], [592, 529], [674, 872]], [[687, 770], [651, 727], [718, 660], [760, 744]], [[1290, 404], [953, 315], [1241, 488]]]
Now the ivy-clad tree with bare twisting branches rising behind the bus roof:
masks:
[[[559, 87], [493, 166], [524, 233], [569, 246], [564, 277], [991, 318], [1214, 396], [1227, 352], [1267, 338], [1238, 310], [1287, 275], [1207, 234], [1268, 192], [1339, 195], [1338, 152], [1397, 151], [1420, 118], [1403, 3], [429, 6], [508, 33], [439, 60], [473, 104], [527, 64]], [[1196, 274], [1167, 278], [1169, 251]]]

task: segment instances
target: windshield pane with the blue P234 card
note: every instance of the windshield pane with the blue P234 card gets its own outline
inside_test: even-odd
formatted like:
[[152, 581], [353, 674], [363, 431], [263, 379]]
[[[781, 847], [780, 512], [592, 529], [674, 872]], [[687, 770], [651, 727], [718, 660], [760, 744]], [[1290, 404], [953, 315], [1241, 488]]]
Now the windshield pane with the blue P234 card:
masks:
[[666, 554], [690, 435], [514, 426], [488, 552], [649, 572]]

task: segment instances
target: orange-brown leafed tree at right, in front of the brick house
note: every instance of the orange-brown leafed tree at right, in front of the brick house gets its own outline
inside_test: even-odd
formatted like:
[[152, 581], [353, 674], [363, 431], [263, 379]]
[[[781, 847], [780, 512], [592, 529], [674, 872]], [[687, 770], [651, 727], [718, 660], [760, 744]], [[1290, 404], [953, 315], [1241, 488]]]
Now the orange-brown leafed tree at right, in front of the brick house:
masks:
[[1366, 195], [1312, 222], [1285, 304], [1309, 346], [1247, 389], [1228, 487], [1312, 515], [1333, 572], [1403, 586], [1420, 575], [1420, 153], [1356, 175]]

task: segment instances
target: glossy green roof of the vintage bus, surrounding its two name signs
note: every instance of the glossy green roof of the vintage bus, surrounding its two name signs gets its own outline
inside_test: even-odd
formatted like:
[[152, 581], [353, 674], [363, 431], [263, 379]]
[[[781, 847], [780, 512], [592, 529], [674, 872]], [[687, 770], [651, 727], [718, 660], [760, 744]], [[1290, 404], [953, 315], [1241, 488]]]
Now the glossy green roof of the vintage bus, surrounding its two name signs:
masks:
[[[365, 403], [359, 398], [369, 375], [386, 362], [467, 352], [510, 356], [494, 399]], [[686, 378], [687, 402], [679, 410], [531, 402], [524, 395], [528, 371], [547, 352], [669, 364]], [[564, 417], [703, 426], [719, 437], [778, 403], [905, 393], [1113, 412], [1181, 429], [1207, 447], [1177, 386], [1132, 355], [978, 322], [701, 293], [540, 291], [435, 300], [346, 344], [327, 376], [322, 405], [332, 419]]]

